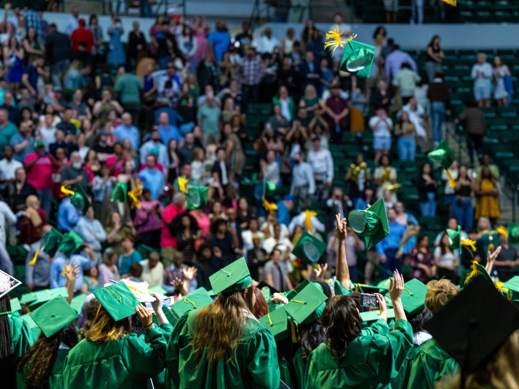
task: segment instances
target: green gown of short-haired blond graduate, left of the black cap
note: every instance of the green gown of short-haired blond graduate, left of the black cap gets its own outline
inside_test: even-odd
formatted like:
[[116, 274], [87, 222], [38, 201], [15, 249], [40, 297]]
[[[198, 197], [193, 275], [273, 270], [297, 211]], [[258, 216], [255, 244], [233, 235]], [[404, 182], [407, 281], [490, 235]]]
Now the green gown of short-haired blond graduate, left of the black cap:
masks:
[[458, 363], [434, 339], [419, 346], [409, 372], [409, 389], [433, 389], [436, 382], [458, 372]]

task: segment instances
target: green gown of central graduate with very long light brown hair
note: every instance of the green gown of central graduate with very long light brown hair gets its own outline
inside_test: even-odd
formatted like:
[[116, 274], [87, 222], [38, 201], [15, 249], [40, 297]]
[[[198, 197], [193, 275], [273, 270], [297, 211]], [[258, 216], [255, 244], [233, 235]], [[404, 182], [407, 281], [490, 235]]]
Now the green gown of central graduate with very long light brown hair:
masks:
[[193, 352], [198, 309], [186, 312], [176, 323], [166, 353], [169, 386], [174, 389], [278, 389], [276, 341], [256, 319], [248, 318], [233, 359], [220, 360], [215, 368], [206, 353], [199, 363]]

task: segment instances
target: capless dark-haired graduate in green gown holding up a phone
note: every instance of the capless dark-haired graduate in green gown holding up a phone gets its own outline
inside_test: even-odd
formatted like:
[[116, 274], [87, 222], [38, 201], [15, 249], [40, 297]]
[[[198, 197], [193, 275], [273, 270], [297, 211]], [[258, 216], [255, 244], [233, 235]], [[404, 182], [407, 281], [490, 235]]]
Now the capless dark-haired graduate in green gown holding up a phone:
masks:
[[[388, 387], [399, 374], [400, 361], [413, 347], [413, 330], [402, 306], [404, 279], [397, 271], [391, 279], [389, 294], [395, 324], [389, 332], [384, 297], [377, 294], [381, 320], [363, 336], [357, 304], [349, 296], [335, 296], [326, 304], [321, 323], [326, 341], [309, 357], [306, 365], [306, 387]], [[407, 293], [406, 291], [404, 293]], [[386, 386], [385, 386], [386, 385]]]

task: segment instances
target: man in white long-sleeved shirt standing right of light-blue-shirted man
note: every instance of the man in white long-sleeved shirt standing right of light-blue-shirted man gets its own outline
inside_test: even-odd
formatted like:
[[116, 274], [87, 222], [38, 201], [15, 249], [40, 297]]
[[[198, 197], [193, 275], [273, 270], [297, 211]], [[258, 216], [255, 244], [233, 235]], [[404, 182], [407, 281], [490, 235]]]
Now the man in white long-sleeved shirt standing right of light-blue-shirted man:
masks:
[[318, 136], [312, 138], [312, 148], [306, 160], [312, 167], [316, 195], [318, 198], [327, 198], [334, 174], [332, 153], [330, 150], [321, 148], [321, 139]]

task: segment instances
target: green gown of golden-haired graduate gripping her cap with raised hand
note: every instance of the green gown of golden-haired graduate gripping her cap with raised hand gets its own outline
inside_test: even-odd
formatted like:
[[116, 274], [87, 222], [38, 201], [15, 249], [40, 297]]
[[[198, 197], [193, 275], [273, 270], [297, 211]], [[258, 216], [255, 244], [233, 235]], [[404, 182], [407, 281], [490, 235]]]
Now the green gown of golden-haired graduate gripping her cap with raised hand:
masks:
[[147, 388], [147, 379], [164, 369], [167, 343], [158, 328], [144, 334], [96, 343], [81, 340], [70, 351], [63, 368], [64, 389]]

